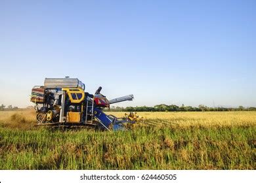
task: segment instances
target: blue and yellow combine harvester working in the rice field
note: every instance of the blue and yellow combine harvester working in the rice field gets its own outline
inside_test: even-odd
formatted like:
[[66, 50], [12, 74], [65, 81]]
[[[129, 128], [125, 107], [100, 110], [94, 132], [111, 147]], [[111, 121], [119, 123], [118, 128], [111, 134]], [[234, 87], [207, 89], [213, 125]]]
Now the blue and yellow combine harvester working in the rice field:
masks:
[[102, 110], [110, 104], [132, 101], [126, 95], [108, 101], [104, 95], [85, 92], [85, 84], [77, 78], [45, 78], [44, 86], [34, 86], [30, 101], [35, 103], [37, 125], [90, 125], [100, 129], [125, 129], [138, 116], [131, 112], [123, 118], [107, 115]]

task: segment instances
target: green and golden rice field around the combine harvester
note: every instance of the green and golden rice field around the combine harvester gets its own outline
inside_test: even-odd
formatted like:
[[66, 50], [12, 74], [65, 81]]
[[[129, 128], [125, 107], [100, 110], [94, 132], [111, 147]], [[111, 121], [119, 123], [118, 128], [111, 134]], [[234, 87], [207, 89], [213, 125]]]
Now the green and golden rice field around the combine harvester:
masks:
[[138, 114], [133, 130], [109, 132], [38, 129], [33, 111], [0, 112], [0, 169], [256, 168], [256, 112]]

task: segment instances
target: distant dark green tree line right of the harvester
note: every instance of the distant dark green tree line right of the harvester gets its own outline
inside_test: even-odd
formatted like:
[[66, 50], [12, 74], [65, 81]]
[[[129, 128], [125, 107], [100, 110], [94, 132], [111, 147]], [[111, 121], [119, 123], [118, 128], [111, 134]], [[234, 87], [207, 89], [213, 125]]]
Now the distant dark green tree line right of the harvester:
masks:
[[136, 111], [136, 112], [189, 112], [189, 111], [256, 111], [256, 107], [207, 107], [205, 105], [199, 105], [198, 107], [191, 106], [178, 106], [178, 105], [155, 105], [154, 107], [112, 107], [110, 111]]

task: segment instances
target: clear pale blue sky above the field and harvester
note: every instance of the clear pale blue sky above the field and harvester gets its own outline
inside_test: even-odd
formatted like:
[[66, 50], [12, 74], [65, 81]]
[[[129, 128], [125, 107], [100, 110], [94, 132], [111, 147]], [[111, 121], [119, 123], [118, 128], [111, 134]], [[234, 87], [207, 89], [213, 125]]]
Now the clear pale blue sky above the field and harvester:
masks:
[[[0, 1], [0, 105], [45, 77], [119, 106], [256, 106], [256, 1]], [[117, 106], [117, 105], [116, 105]]]

